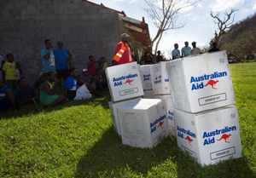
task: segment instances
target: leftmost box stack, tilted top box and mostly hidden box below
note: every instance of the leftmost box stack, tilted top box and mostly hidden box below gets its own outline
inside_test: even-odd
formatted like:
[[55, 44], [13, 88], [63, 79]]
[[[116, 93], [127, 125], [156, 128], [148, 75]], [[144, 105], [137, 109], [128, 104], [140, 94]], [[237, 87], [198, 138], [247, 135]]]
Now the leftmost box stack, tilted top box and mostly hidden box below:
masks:
[[117, 108], [144, 95], [139, 66], [137, 62], [109, 66], [106, 69], [106, 76], [112, 100], [108, 105], [113, 119], [113, 128], [118, 135], [121, 135]]

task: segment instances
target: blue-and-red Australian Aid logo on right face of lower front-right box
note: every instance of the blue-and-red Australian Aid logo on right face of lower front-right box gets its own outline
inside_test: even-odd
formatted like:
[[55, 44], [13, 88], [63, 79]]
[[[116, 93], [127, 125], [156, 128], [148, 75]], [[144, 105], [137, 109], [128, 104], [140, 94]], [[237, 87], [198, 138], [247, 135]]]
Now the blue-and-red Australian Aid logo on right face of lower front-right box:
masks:
[[[204, 132], [203, 137], [202, 137], [205, 140], [204, 146], [215, 143], [215, 137], [217, 135], [221, 135], [221, 137], [219, 139], [217, 139], [217, 141], [224, 140], [225, 143], [230, 143], [230, 141], [228, 141], [228, 139], [231, 136], [231, 134], [229, 133], [231, 131], [236, 131], [236, 126], [232, 126], [232, 127], [226, 126], [226, 127], [224, 127], [224, 129], [216, 129], [212, 132]], [[229, 134], [227, 134], [227, 133], [229, 133]]]

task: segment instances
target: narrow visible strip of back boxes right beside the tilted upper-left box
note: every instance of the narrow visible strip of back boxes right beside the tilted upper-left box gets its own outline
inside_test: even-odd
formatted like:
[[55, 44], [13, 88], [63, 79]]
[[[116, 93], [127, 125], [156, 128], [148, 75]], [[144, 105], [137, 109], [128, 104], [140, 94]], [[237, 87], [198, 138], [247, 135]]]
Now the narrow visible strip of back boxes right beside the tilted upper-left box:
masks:
[[153, 89], [152, 89], [152, 78], [151, 71], [154, 65], [143, 65], [140, 66], [141, 78], [143, 82], [144, 96], [146, 99], [154, 99]]

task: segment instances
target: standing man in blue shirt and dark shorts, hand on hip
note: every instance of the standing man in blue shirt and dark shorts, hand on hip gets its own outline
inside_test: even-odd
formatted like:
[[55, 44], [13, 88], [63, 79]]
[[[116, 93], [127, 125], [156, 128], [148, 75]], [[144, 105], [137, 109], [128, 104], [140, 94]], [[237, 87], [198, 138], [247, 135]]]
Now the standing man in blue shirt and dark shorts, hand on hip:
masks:
[[68, 49], [63, 48], [63, 42], [58, 41], [58, 48], [54, 49], [55, 52], [55, 64], [57, 78], [60, 80], [60, 89], [61, 89], [61, 79], [63, 78], [64, 82], [66, 81], [69, 73], [67, 65], [70, 63], [72, 54]]

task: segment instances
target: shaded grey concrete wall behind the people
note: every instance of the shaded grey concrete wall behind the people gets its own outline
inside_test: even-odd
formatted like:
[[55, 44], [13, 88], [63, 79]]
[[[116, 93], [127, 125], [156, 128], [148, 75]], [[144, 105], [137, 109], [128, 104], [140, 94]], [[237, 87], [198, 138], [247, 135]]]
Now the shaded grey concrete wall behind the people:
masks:
[[86, 67], [89, 55], [110, 64], [119, 42], [118, 14], [82, 0], [0, 1], [0, 55], [12, 53], [33, 83], [42, 71], [40, 50], [49, 38], [73, 54], [73, 66]]

